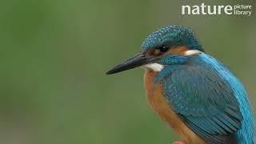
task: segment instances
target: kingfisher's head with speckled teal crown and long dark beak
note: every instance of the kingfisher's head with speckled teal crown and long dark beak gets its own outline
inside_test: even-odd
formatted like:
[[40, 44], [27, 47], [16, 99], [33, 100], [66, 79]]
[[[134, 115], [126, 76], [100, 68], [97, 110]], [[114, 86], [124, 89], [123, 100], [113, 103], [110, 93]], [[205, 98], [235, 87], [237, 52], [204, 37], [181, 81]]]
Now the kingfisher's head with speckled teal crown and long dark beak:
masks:
[[162, 63], [163, 59], [172, 57], [172, 61], [183, 62], [181, 58], [203, 51], [193, 30], [185, 26], [166, 26], [154, 31], [144, 40], [139, 54], [114, 66], [106, 74], [114, 74], [138, 66], [146, 70], [161, 71], [166, 64], [166, 62]]

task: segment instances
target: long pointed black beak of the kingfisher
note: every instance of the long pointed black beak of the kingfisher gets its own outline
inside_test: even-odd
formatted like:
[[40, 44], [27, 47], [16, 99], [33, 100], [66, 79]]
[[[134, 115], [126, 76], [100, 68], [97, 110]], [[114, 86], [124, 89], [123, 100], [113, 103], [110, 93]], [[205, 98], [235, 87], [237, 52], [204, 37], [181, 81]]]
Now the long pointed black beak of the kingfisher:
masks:
[[124, 70], [130, 70], [138, 66], [145, 65], [147, 63], [153, 62], [155, 58], [151, 56], [146, 56], [144, 54], [137, 54], [132, 58], [127, 59], [126, 61], [120, 63], [117, 66], [114, 66], [112, 69], [106, 72], [106, 74], [115, 74]]

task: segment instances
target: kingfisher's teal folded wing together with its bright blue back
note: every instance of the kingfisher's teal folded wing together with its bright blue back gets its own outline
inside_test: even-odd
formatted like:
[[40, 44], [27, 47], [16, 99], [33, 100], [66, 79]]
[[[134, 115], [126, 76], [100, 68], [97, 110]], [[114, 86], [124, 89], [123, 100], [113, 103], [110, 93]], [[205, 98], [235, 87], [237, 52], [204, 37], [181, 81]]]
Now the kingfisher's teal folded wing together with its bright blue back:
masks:
[[155, 81], [186, 126], [210, 143], [253, 143], [254, 118], [238, 78], [210, 55], [178, 57], [160, 60], [167, 66]]

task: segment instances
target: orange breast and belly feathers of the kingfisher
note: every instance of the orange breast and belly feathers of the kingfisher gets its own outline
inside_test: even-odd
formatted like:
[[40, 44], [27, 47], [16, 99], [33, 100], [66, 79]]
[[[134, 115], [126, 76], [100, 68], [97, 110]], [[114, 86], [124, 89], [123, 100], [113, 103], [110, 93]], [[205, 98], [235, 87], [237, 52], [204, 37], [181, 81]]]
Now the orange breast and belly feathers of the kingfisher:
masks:
[[190, 130], [179, 115], [171, 109], [166, 97], [162, 95], [162, 85], [154, 82], [156, 74], [158, 73], [153, 70], [146, 70], [146, 73], [144, 74], [144, 86], [150, 106], [164, 122], [171, 126], [181, 136], [181, 138], [185, 140], [186, 143], [205, 144], [206, 142], [202, 140], [198, 134], [195, 134]]

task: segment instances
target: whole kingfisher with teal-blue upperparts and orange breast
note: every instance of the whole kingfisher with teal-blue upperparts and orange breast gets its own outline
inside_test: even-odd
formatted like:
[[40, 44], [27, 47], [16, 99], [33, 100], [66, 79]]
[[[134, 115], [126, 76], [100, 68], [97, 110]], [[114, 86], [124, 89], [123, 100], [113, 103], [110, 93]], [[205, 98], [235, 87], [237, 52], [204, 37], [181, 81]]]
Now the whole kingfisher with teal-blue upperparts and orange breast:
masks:
[[145, 69], [150, 106], [181, 140], [175, 144], [253, 144], [254, 116], [242, 82], [210, 54], [193, 30], [166, 26], [142, 42], [139, 54], [106, 74]]

